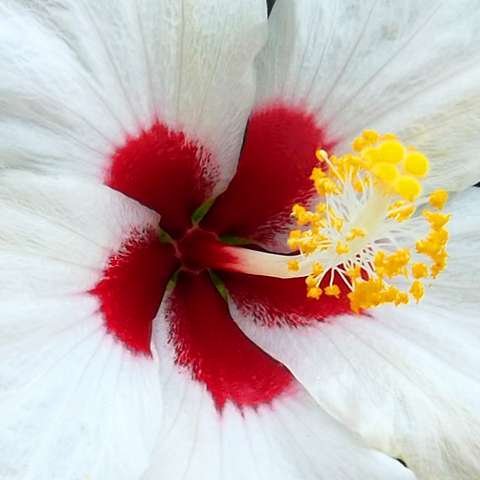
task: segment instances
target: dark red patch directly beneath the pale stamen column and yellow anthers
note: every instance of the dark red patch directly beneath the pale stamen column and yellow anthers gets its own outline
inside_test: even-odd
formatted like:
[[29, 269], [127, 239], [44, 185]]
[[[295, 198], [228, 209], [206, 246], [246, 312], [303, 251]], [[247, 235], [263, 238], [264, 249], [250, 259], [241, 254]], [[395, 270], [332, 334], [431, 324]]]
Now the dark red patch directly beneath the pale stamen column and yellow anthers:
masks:
[[[301, 327], [352, 313], [348, 289], [340, 279], [335, 282], [340, 287], [338, 299], [322, 295], [314, 300], [306, 297], [303, 278], [282, 280], [223, 272], [221, 277], [240, 312], [253, 315], [260, 325]], [[325, 287], [329, 280], [327, 274], [321, 286]]]

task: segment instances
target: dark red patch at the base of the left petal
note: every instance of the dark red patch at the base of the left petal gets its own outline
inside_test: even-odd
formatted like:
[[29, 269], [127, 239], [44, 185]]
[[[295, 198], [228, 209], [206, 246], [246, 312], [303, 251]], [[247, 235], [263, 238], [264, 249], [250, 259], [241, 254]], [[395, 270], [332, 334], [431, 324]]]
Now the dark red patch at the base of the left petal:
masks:
[[131, 351], [150, 355], [152, 322], [176, 268], [171, 245], [160, 243], [155, 232], [132, 232], [92, 290], [107, 330]]

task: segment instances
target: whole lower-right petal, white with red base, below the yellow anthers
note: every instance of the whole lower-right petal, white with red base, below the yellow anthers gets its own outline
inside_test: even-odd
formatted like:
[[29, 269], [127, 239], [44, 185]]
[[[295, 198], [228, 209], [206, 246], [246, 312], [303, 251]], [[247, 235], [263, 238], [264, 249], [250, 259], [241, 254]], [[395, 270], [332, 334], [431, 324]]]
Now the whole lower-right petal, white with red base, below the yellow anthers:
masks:
[[225, 277], [230, 311], [249, 338], [330, 414], [422, 480], [480, 475], [479, 200], [472, 189], [450, 204], [449, 264], [419, 305], [352, 316], [338, 303], [328, 314], [320, 302], [315, 318], [288, 288], [261, 299], [249, 279]]

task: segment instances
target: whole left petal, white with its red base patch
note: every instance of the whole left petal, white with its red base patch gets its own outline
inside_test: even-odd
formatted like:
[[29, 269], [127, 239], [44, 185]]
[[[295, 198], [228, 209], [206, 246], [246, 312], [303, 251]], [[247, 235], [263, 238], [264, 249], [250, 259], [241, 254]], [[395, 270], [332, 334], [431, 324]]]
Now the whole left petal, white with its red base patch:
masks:
[[150, 245], [150, 270], [171, 266], [162, 246], [152, 255], [158, 221], [106, 187], [0, 175], [2, 478], [133, 480], [147, 467], [161, 426], [158, 361], [127, 333], [138, 322], [133, 339], [144, 338], [156, 311], [137, 297], [159, 304], [167, 276], [139, 269], [138, 252]]

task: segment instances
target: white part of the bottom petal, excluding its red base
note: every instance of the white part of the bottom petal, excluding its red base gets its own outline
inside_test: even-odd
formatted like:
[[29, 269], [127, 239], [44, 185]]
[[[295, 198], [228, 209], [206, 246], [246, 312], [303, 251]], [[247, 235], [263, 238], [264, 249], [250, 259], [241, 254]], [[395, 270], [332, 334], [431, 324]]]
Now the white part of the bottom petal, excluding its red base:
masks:
[[207, 388], [175, 363], [169, 315], [167, 300], [155, 329], [165, 426], [142, 480], [414, 478], [395, 460], [363, 448], [297, 384], [271, 404], [240, 409], [227, 402], [219, 411]]

